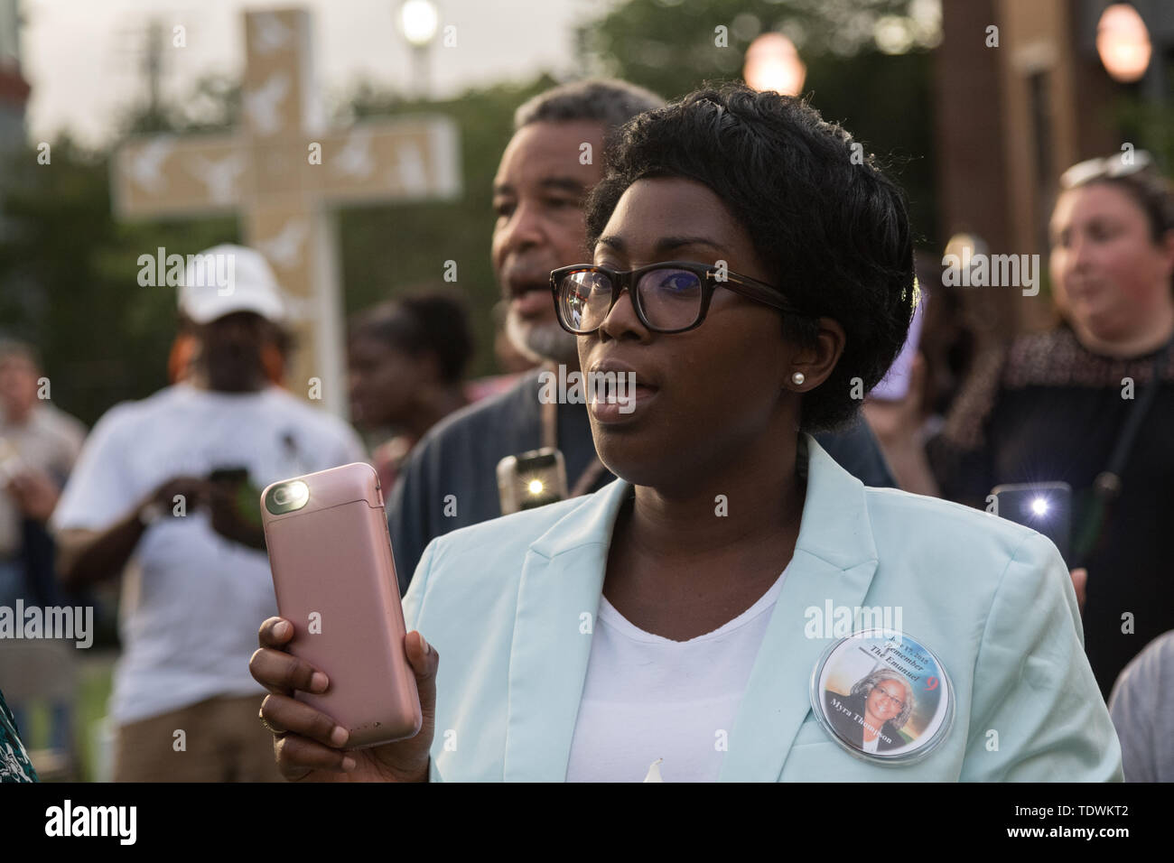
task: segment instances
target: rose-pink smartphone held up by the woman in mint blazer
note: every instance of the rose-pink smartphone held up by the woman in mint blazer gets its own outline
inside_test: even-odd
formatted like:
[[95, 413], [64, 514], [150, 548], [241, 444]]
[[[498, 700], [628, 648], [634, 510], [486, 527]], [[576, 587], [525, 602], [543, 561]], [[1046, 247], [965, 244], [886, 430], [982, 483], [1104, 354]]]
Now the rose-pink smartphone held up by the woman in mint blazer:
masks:
[[352, 749], [416, 735], [420, 697], [375, 468], [274, 483], [261, 493], [261, 515], [277, 608], [294, 625], [286, 649], [330, 677], [325, 693], [295, 697], [346, 728]]

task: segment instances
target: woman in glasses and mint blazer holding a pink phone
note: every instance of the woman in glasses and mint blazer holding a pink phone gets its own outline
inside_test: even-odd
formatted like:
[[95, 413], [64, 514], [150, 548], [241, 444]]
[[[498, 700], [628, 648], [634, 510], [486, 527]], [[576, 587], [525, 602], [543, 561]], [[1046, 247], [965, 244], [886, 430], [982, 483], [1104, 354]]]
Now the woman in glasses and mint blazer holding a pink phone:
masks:
[[[1055, 547], [864, 487], [810, 436], [857, 414], [915, 304], [903, 196], [861, 147], [798, 100], [694, 93], [623, 128], [587, 228], [594, 263], [552, 290], [621, 479], [429, 546], [409, 741], [346, 750], [290, 697], [325, 674], [265, 621], [251, 667], [285, 775], [1119, 780]], [[865, 619], [889, 632], [845, 640]], [[853, 748], [835, 729], [859, 717], [828, 704], [890, 667], [909, 686], [876, 709], [902, 741]]]

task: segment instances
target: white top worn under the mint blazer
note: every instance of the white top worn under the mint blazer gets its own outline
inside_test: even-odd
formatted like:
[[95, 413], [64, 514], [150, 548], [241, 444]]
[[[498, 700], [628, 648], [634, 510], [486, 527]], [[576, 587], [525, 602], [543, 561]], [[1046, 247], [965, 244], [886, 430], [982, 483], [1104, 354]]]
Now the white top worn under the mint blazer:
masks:
[[787, 571], [757, 602], [688, 641], [647, 633], [600, 596], [567, 782], [716, 782]]

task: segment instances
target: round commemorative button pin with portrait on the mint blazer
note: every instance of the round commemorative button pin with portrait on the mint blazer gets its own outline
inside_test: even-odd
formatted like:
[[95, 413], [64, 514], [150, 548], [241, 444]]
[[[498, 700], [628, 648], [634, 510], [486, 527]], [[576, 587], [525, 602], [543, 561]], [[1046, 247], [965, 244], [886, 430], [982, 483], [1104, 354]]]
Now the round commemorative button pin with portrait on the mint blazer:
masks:
[[811, 672], [811, 709], [852, 755], [877, 764], [910, 764], [950, 733], [953, 685], [942, 661], [917, 639], [865, 629], [824, 650]]

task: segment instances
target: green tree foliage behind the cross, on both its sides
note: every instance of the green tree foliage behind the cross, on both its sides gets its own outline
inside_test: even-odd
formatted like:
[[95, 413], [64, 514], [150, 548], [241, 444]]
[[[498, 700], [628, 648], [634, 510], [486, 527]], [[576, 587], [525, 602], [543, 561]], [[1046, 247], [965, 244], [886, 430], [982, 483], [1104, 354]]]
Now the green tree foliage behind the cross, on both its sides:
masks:
[[[339, 213], [345, 311], [353, 313], [406, 290], [444, 284], [457, 262], [477, 336], [471, 372], [495, 371], [491, 310], [498, 289], [490, 265], [491, 184], [510, 140], [513, 109], [551, 79], [500, 86], [444, 102], [405, 102], [370, 87], [342, 103], [353, 117], [416, 113], [452, 116], [459, 128], [463, 194], [456, 201], [363, 207]], [[182, 106], [139, 108], [128, 132], [210, 132], [236, 126], [238, 88], [200, 82]], [[11, 180], [0, 211], [0, 333], [26, 339], [45, 358], [54, 400], [93, 424], [112, 405], [167, 384], [175, 337], [175, 289], [140, 286], [137, 258], [188, 255], [239, 242], [231, 216], [119, 222], [110, 209], [110, 151], [88, 151], [68, 136], [36, 150], [0, 156]]]

